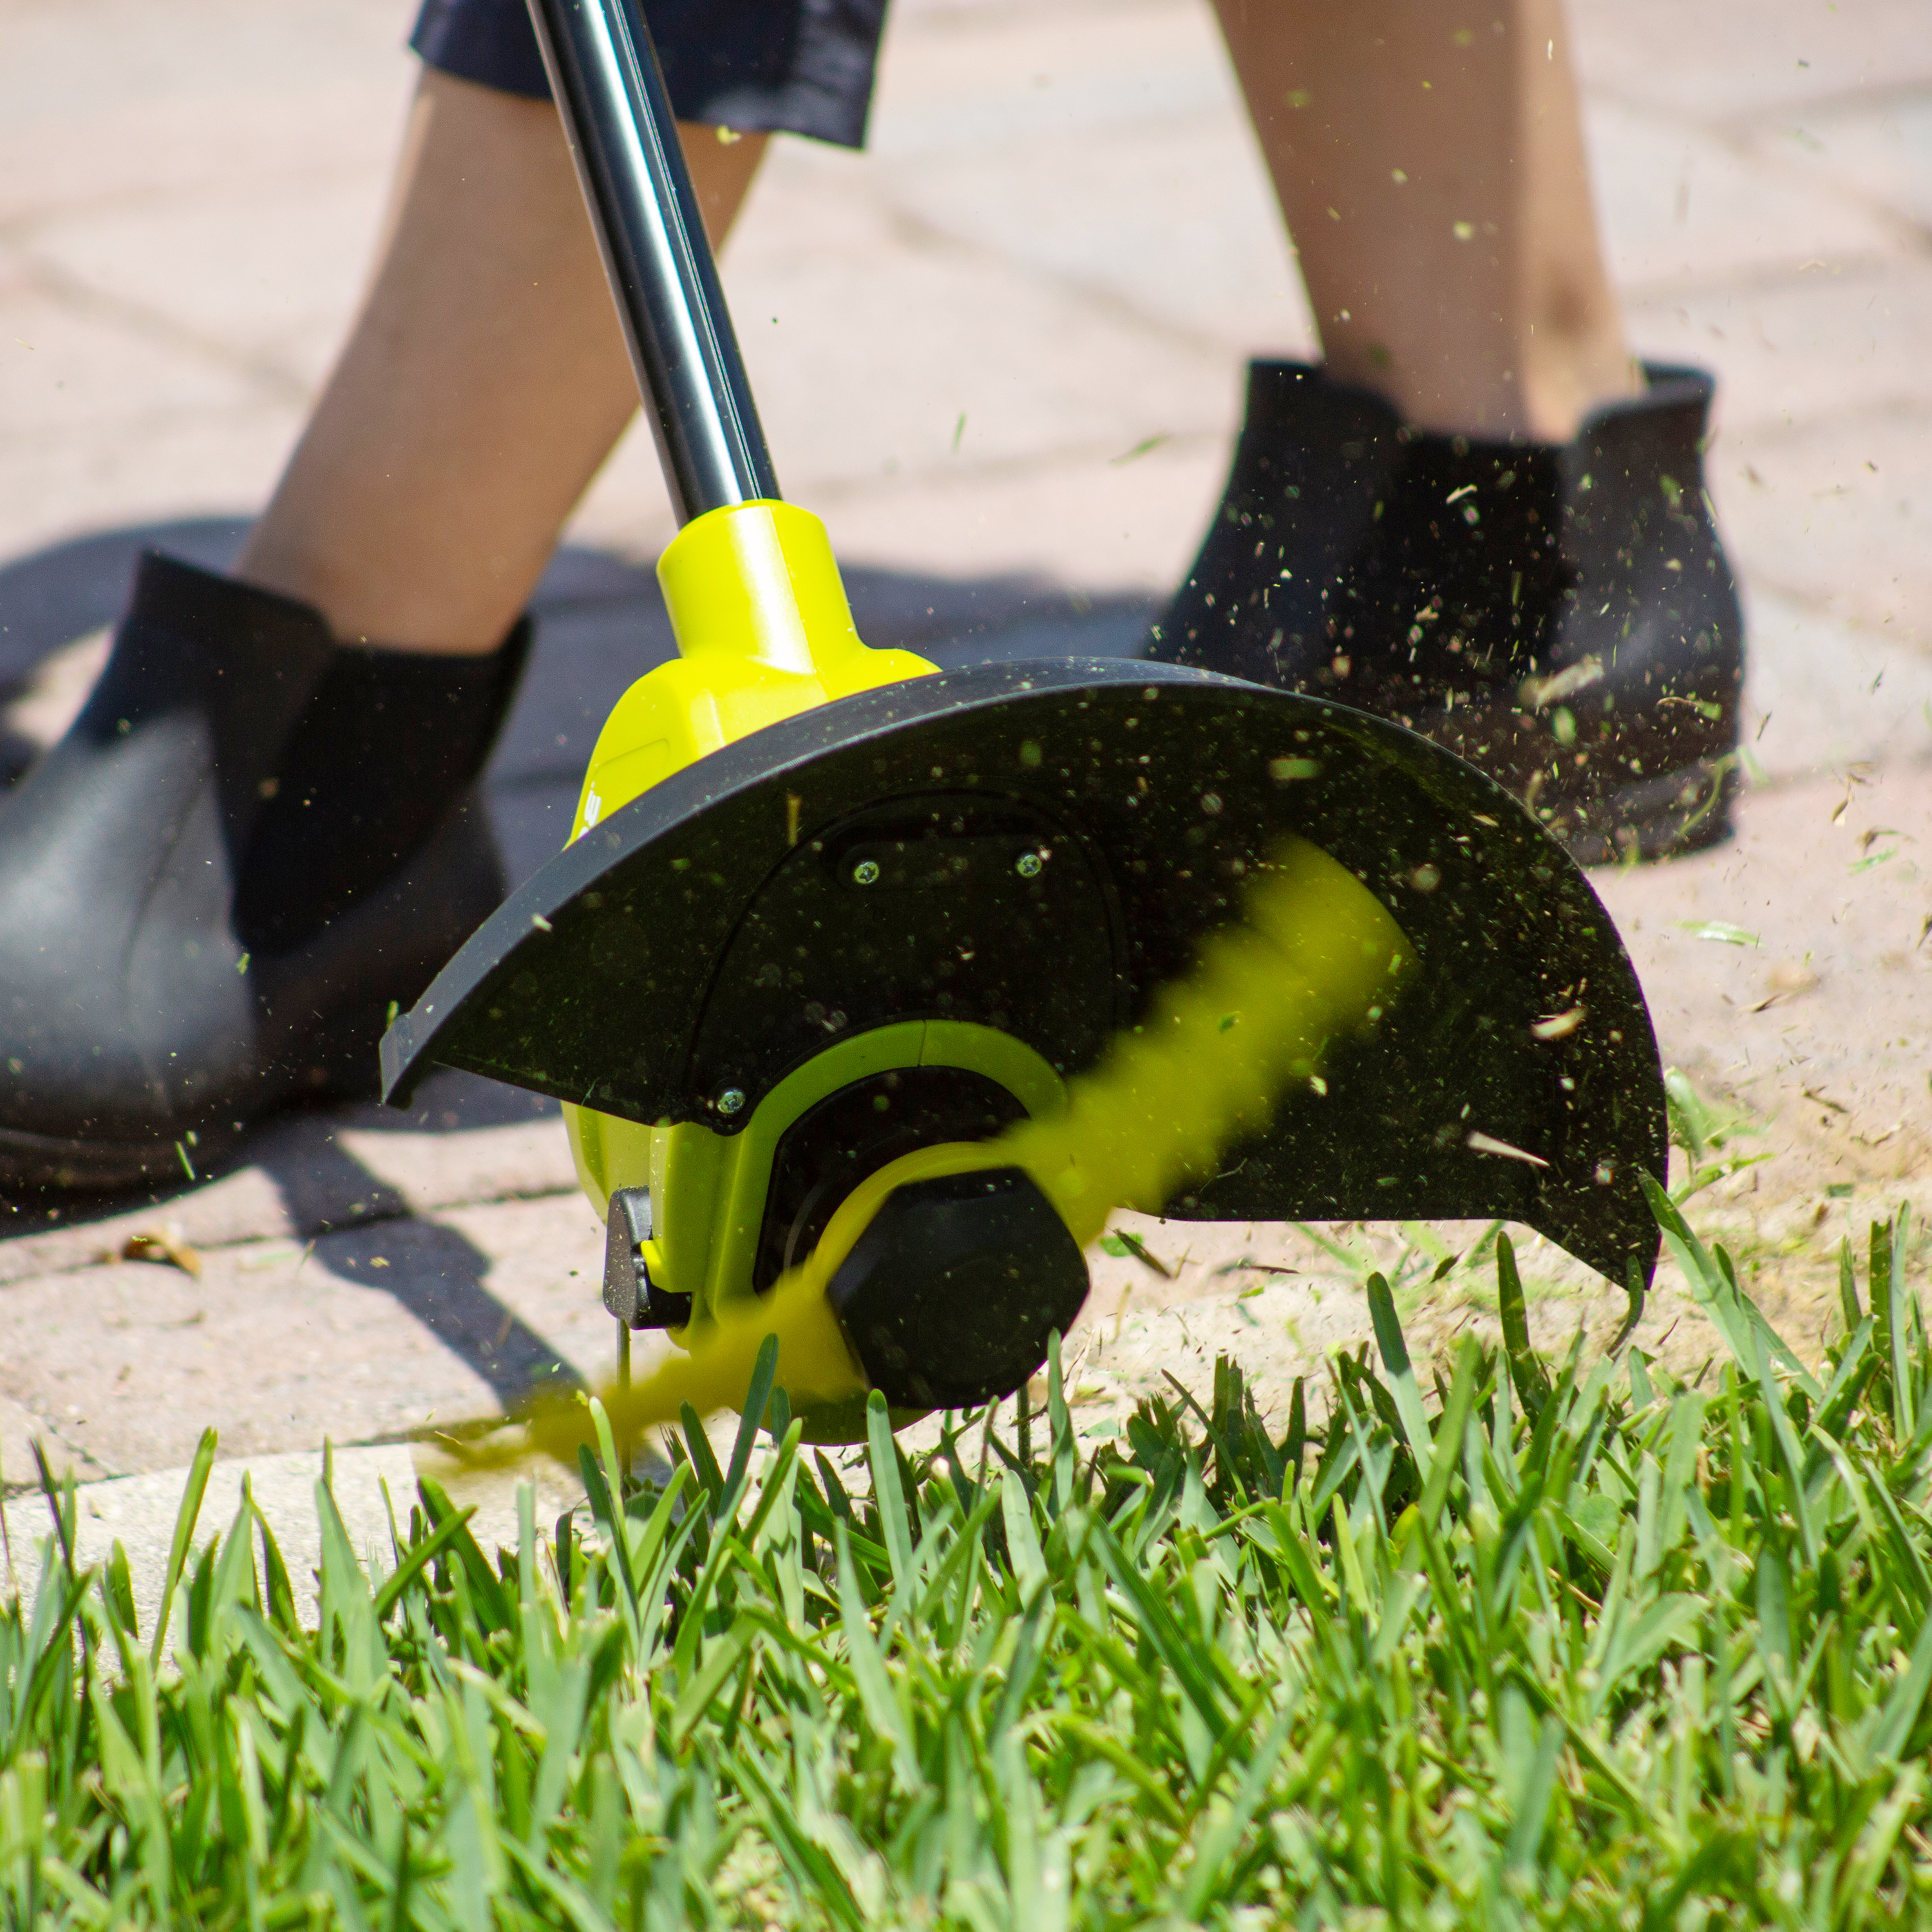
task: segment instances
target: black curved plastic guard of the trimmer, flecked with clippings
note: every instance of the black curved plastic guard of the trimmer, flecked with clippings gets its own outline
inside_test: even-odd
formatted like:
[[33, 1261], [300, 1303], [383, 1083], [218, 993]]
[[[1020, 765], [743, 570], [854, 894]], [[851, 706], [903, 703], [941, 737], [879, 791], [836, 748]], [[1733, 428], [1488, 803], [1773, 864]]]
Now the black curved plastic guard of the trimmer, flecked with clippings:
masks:
[[[1648, 1283], [1663, 1080], [1577, 866], [1412, 732], [1180, 667], [981, 665], [699, 759], [469, 939], [384, 1037], [384, 1097], [437, 1063], [730, 1134], [829, 1037], [908, 1018], [999, 1028], [1076, 1074], [1285, 833], [1368, 885], [1420, 970], [1329, 1049], [1325, 1094], [1285, 1094], [1163, 1211], [1501, 1217]], [[1043, 854], [1026, 891], [1016, 854]]]

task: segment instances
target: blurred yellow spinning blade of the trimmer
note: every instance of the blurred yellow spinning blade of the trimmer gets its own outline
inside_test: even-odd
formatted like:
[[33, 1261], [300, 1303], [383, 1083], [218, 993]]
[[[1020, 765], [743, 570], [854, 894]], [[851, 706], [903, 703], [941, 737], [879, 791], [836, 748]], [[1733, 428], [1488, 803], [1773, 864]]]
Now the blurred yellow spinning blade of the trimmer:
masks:
[[[1379, 1018], [1406, 958], [1401, 927], [1354, 873], [1306, 840], [1283, 840], [1256, 871], [1242, 922], [1213, 933], [1148, 1020], [1070, 1082], [1061, 1113], [1020, 1121], [989, 1142], [920, 1148], [871, 1175], [769, 1294], [694, 1321], [682, 1350], [641, 1381], [599, 1391], [611, 1426], [632, 1439], [674, 1422], [686, 1405], [699, 1414], [740, 1406], [767, 1337], [777, 1337], [777, 1376], [794, 1408], [862, 1393], [864, 1372], [825, 1289], [893, 1188], [1020, 1167], [1084, 1248], [1115, 1208], [1159, 1211], [1264, 1128], [1283, 1092], [1320, 1082], [1327, 1041]], [[471, 1455], [574, 1464], [593, 1439], [589, 1405], [572, 1393], [535, 1405], [522, 1443]]]

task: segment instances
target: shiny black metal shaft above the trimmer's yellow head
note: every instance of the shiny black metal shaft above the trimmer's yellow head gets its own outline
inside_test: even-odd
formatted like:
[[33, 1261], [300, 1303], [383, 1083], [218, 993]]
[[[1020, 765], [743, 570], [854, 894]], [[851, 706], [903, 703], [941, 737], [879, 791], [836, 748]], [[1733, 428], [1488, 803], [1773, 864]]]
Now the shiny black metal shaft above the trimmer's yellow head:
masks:
[[738, 338], [636, 0], [529, 0], [680, 522], [777, 497]]

